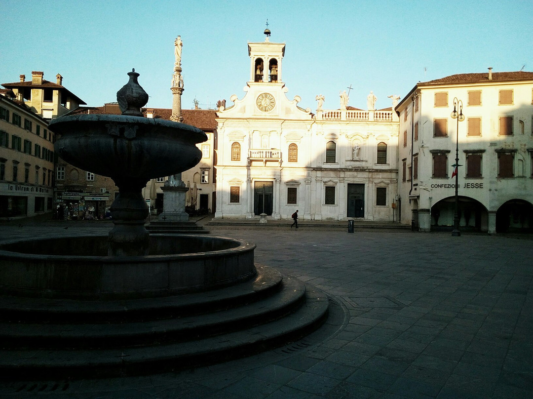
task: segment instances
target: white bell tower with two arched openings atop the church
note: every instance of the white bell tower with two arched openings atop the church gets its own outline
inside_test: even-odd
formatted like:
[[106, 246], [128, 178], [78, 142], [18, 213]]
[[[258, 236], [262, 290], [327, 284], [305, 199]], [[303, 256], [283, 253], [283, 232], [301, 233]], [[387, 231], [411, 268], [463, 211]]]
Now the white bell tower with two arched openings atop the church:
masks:
[[264, 42], [248, 43], [249, 83], [282, 83], [281, 60], [285, 55], [285, 43], [270, 43], [268, 24], [264, 34]]

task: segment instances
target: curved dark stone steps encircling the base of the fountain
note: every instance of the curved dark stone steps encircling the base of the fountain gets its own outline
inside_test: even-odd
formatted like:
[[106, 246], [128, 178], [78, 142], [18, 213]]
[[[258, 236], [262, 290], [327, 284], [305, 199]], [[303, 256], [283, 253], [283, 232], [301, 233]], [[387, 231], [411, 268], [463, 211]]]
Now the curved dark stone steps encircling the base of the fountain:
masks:
[[[204, 297], [197, 293], [173, 300], [123, 301], [128, 302], [123, 322], [110, 322], [109, 318], [121, 313], [120, 301], [113, 301], [109, 309], [100, 304], [96, 310], [91, 310], [89, 303], [84, 307], [64, 304], [50, 323], [4, 318], [0, 323], [0, 375], [14, 379], [87, 378], [191, 368], [286, 344], [318, 328], [327, 317], [328, 299], [323, 292], [293, 278], [281, 280], [271, 268], [258, 267], [257, 278], [243, 284], [206, 292]], [[2, 299], [4, 309], [8, 308], [5, 297]], [[23, 314], [45, 313], [46, 305], [36, 306], [35, 300], [32, 309], [28, 301], [21, 306]], [[158, 301], [164, 309], [161, 313]], [[13, 301], [9, 308], [12, 318]], [[93, 321], [84, 322], [80, 317], [84, 313]], [[98, 315], [106, 321], [94, 323]], [[134, 317], [128, 319], [130, 315]], [[139, 320], [139, 315], [150, 317]]]

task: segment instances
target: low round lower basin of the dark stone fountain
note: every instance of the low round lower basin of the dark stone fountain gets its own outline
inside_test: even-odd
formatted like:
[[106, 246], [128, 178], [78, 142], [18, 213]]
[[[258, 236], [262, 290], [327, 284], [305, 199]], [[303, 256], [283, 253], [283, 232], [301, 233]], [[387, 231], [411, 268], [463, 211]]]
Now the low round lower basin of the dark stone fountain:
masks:
[[254, 244], [223, 237], [150, 236], [157, 255], [107, 256], [107, 236], [0, 245], [0, 292], [71, 299], [166, 297], [238, 284], [256, 275]]

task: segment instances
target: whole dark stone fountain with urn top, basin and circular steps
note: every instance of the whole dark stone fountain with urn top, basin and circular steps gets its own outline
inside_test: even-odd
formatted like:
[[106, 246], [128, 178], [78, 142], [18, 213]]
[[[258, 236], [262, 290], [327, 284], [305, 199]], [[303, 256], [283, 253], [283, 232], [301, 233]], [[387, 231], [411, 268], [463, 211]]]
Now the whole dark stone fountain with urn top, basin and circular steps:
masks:
[[50, 123], [56, 152], [114, 179], [108, 236], [0, 244], [0, 376], [102, 377], [192, 367], [283, 344], [325, 320], [324, 293], [254, 264], [229, 238], [149, 234], [141, 189], [196, 165], [196, 127], [142, 117], [138, 73], [122, 115]]

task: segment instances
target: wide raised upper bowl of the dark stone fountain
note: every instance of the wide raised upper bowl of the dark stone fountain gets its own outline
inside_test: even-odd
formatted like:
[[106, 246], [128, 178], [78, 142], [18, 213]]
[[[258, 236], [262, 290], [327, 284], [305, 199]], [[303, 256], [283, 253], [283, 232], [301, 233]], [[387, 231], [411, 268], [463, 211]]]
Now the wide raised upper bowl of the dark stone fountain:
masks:
[[[55, 151], [80, 169], [144, 187], [198, 164], [207, 140], [197, 127], [128, 115], [66, 115], [50, 123]], [[134, 183], [135, 182], [135, 183]]]

